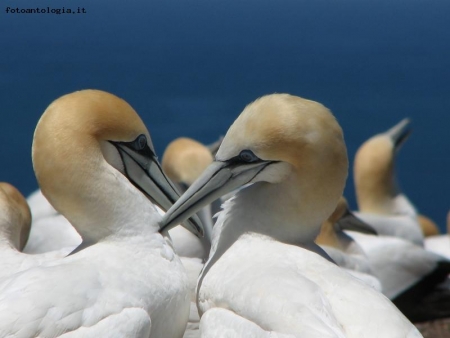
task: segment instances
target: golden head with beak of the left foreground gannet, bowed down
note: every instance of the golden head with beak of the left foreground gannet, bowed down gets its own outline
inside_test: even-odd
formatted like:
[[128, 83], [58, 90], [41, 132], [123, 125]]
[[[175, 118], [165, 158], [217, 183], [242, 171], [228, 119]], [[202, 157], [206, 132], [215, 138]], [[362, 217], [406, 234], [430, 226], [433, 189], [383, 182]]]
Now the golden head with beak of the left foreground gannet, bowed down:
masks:
[[165, 210], [179, 197], [138, 114], [100, 90], [50, 104], [36, 127], [32, 156], [42, 193], [84, 240], [124, 230], [123, 222], [142, 224], [144, 215], [154, 214], [147, 197]]

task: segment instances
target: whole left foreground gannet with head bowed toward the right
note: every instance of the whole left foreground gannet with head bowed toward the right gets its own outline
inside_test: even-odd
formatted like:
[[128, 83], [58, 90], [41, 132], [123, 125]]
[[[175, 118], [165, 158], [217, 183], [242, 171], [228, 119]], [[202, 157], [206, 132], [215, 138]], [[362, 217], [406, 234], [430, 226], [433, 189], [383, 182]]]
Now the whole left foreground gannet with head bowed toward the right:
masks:
[[133, 108], [98, 90], [62, 96], [39, 120], [32, 156], [42, 193], [83, 244], [0, 282], [0, 336], [181, 337], [187, 276], [147, 198], [166, 205], [177, 193]]

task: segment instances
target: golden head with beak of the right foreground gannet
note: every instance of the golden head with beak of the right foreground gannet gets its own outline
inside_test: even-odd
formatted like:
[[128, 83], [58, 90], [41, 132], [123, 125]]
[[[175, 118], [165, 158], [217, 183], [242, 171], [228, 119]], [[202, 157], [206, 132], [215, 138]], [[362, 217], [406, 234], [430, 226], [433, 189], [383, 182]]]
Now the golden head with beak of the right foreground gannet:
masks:
[[[285, 237], [303, 231], [304, 238], [315, 238], [342, 195], [347, 170], [342, 129], [327, 108], [288, 94], [263, 96], [231, 125], [215, 161], [170, 209], [163, 226], [247, 183], [257, 183], [237, 198], [260, 210], [265, 233], [277, 224], [272, 218], [281, 212], [289, 225]], [[304, 227], [299, 227], [299, 217]]]

